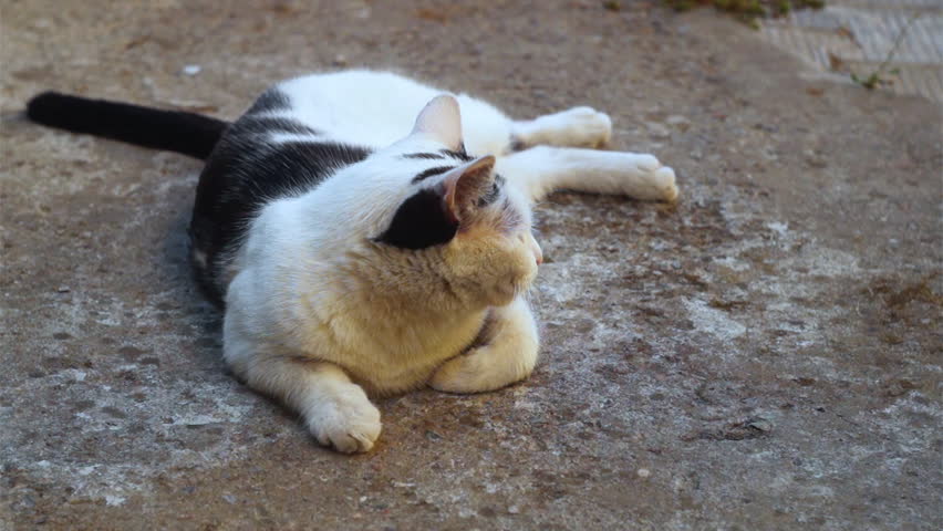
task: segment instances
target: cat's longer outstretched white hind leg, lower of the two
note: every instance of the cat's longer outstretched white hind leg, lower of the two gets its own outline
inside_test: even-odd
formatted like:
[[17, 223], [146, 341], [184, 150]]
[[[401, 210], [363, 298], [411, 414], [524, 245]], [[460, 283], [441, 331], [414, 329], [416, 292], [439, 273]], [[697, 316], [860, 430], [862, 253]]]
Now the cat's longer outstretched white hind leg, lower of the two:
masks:
[[495, 170], [531, 201], [559, 189], [672, 201], [674, 170], [652, 155], [537, 146], [498, 159]]

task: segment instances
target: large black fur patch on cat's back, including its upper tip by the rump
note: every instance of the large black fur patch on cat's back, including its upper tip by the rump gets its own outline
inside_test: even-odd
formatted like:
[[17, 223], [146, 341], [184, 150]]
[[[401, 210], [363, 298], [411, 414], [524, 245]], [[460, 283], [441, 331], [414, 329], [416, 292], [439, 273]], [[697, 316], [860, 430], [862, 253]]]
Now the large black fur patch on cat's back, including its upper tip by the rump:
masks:
[[222, 304], [232, 261], [267, 206], [319, 187], [372, 149], [305, 125], [278, 86], [224, 133], [200, 174], [190, 221], [190, 257], [206, 294]]

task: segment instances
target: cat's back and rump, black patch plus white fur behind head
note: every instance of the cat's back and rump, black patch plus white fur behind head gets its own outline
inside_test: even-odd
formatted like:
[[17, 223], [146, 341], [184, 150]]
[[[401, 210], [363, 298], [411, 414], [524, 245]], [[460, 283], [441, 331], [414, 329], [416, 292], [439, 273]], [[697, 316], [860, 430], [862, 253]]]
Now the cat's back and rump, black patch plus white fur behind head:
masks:
[[[262, 93], [226, 131], [197, 186], [191, 258], [207, 294], [221, 303], [232, 260], [267, 205], [307, 194], [407, 136], [443, 92], [392, 72], [352, 70], [291, 79]], [[510, 121], [480, 100], [457, 100], [467, 152], [500, 155]]]

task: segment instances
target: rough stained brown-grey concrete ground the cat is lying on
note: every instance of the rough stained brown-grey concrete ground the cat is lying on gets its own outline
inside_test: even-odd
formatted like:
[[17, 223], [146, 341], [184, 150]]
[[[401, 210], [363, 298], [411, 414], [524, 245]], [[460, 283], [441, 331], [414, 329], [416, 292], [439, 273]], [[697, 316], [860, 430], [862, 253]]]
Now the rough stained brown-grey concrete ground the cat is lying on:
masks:
[[[2, 0], [0, 528], [943, 527], [941, 107], [621, 3]], [[332, 65], [597, 106], [681, 187], [541, 206], [533, 376], [383, 400], [357, 457], [226, 374], [185, 258], [199, 164], [19, 114], [56, 88], [231, 118]]]

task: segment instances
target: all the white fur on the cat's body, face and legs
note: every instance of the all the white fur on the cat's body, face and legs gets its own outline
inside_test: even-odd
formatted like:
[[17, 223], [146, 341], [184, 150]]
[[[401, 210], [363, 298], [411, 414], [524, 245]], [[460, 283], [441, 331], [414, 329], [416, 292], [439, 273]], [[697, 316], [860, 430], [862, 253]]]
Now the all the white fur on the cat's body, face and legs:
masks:
[[[380, 413], [365, 391], [429, 384], [475, 393], [530, 374], [538, 336], [522, 291], [540, 261], [530, 202], [558, 188], [664, 200], [677, 194], [671, 168], [651, 155], [511, 153], [512, 143], [604, 144], [611, 121], [589, 107], [514, 122], [463, 94], [455, 108], [446, 98], [423, 111], [442, 91], [370, 71], [299, 77], [279, 88], [294, 110], [273, 115], [309, 125], [319, 138], [377, 152], [253, 220], [231, 267], [224, 354], [250, 386], [298, 410], [321, 444], [340, 451], [366, 451], [380, 435]], [[497, 157], [520, 225], [507, 233], [473, 225], [421, 258], [372, 243], [416, 191], [410, 179], [442, 165], [402, 155], [454, 148], [458, 137], [470, 155]], [[494, 321], [491, 335], [475, 344], [486, 320]]]

